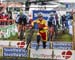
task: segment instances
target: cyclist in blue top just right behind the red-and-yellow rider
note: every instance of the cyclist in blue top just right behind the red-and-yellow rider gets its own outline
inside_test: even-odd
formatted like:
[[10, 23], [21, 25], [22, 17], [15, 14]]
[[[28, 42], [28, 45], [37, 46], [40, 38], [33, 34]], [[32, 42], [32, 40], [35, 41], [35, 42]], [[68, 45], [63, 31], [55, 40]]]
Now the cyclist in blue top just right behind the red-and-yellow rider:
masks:
[[53, 40], [53, 36], [54, 36], [54, 23], [55, 23], [55, 19], [54, 19], [54, 13], [51, 13], [48, 19], [48, 30], [49, 30], [49, 34], [48, 34], [48, 40]]

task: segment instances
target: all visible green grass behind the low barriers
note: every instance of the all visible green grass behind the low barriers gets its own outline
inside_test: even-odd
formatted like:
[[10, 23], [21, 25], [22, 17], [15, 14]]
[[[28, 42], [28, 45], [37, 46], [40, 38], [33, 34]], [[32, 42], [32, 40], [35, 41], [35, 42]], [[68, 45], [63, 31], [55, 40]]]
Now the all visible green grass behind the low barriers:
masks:
[[[72, 41], [72, 36], [68, 34], [68, 31], [66, 31], [66, 33], [61, 33], [62, 31], [59, 32], [59, 34], [57, 35], [57, 38], [55, 39], [55, 41], [66, 41], [66, 42], [71, 42]], [[32, 36], [32, 41], [36, 40], [36, 33], [37, 31], [35, 31], [35, 33]], [[26, 39], [28, 37], [29, 34], [29, 30], [26, 30]], [[18, 34], [16, 33], [15, 36], [13, 36], [11, 34], [11, 36], [9, 38], [1, 38], [0, 40], [18, 40]]]

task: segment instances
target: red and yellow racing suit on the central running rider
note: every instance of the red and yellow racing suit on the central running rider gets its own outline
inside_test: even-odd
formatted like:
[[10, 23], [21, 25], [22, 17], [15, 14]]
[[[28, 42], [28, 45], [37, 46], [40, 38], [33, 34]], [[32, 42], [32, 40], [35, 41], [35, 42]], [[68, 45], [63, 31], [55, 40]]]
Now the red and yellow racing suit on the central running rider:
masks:
[[[48, 33], [48, 26], [47, 26], [47, 21], [46, 20], [34, 20], [32, 22], [32, 26], [34, 26], [34, 24], [38, 24], [38, 29], [39, 29], [39, 32], [38, 34], [42, 37], [42, 41], [47, 41], [47, 33]], [[43, 28], [42, 30], [40, 30], [40, 28]]]

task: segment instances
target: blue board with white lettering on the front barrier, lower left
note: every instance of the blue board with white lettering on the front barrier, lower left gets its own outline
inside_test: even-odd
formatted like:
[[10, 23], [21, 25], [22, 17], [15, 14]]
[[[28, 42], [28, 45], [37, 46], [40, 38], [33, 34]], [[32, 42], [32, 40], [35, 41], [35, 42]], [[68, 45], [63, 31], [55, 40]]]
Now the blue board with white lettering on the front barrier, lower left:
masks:
[[24, 48], [3, 48], [3, 56], [27, 57], [28, 51]]

